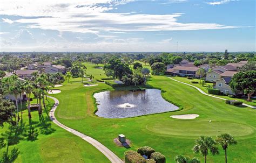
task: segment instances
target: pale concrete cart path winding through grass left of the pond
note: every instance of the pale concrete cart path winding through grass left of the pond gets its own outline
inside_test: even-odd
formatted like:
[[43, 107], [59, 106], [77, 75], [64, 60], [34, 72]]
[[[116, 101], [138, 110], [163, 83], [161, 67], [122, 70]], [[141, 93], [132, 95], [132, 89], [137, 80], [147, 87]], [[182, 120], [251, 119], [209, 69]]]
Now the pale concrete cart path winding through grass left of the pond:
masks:
[[58, 126], [62, 127], [63, 129], [75, 134], [76, 136], [84, 139], [85, 141], [87, 141], [88, 143], [90, 143], [91, 145], [95, 146], [100, 152], [102, 152], [111, 162], [114, 162], [114, 163], [123, 163], [123, 161], [121, 159], [119, 159], [117, 157], [116, 154], [114, 154], [112, 151], [109, 150], [109, 148], [105, 147], [103, 144], [99, 143], [99, 141], [89, 137], [89, 136], [86, 136], [85, 134], [81, 133], [81, 132], [78, 132], [74, 129], [71, 129], [70, 127], [67, 127], [65, 126], [64, 124], [60, 123], [55, 115], [54, 115], [54, 112], [59, 104], [59, 101], [57, 98], [55, 97], [51, 97], [51, 96], [48, 96], [49, 98], [51, 98], [52, 100], [55, 101], [55, 105], [53, 105], [51, 111], [50, 111], [50, 118], [51, 118], [51, 121], [55, 124], [57, 124]]

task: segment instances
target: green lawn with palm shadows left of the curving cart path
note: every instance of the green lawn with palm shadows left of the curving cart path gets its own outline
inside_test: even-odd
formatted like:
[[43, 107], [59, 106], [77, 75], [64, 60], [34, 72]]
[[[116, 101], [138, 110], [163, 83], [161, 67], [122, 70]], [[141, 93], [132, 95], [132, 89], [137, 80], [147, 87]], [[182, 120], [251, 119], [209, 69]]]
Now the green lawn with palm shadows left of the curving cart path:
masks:
[[[1, 137], [7, 139], [9, 134], [11, 135], [8, 154], [10, 155], [14, 148], [18, 150], [12, 160], [15, 162], [110, 162], [91, 144], [50, 121], [46, 112], [49, 112], [54, 102], [48, 99], [47, 108], [41, 118], [37, 111], [32, 111], [32, 137], [29, 138], [30, 127], [26, 110], [23, 110], [23, 123], [13, 128], [11, 134], [9, 125], [5, 124], [0, 128]], [[35, 102], [34, 99], [33, 103]], [[25, 107], [25, 104], [23, 106]], [[6, 147], [0, 150], [0, 160], [5, 151]]]

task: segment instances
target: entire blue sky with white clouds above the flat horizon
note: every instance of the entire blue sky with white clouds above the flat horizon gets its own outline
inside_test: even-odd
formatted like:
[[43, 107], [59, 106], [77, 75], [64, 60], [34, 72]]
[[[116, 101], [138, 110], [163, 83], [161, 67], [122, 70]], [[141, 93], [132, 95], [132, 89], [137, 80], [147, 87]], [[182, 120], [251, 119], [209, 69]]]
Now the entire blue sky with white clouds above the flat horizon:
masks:
[[1, 52], [252, 52], [254, 0], [0, 0]]

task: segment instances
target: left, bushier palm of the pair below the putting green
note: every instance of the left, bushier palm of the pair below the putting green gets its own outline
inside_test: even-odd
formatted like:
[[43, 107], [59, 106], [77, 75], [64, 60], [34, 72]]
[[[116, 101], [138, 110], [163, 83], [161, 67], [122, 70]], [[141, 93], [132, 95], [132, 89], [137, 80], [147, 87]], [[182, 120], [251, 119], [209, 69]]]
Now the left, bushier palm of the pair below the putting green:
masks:
[[204, 137], [200, 136], [192, 148], [194, 153], [199, 153], [205, 157], [205, 163], [208, 155], [208, 150], [211, 152], [212, 155], [219, 154], [218, 147], [216, 146], [216, 142], [213, 140], [212, 137]]

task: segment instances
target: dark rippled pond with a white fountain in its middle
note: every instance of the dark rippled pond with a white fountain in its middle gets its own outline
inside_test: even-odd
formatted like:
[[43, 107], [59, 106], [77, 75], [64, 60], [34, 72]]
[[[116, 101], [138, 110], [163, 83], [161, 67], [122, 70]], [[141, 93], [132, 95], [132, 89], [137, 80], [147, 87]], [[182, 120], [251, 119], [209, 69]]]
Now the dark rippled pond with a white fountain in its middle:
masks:
[[98, 103], [96, 115], [104, 118], [128, 118], [178, 110], [164, 100], [161, 90], [114, 90], [93, 95]]

